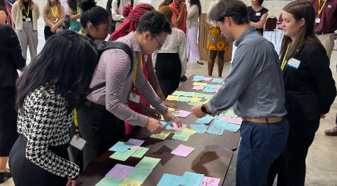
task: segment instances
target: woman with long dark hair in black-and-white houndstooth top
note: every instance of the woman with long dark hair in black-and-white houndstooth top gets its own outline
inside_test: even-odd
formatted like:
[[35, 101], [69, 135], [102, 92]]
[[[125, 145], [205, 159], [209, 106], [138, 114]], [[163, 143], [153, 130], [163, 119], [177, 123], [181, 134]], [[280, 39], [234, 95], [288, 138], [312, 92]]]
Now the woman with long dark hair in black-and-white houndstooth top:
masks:
[[94, 42], [70, 30], [50, 37], [17, 79], [19, 138], [9, 156], [15, 185], [76, 185], [69, 125], [96, 67]]

